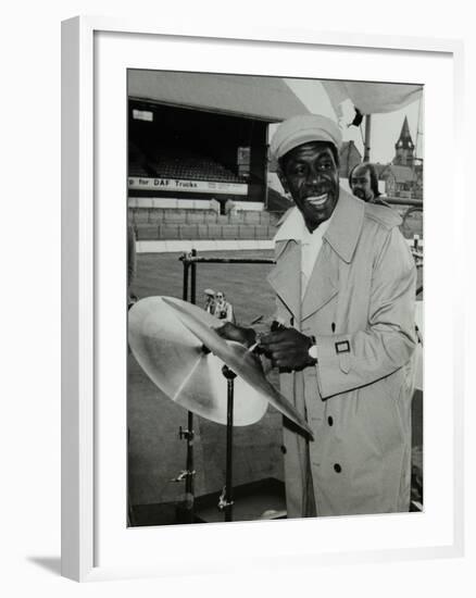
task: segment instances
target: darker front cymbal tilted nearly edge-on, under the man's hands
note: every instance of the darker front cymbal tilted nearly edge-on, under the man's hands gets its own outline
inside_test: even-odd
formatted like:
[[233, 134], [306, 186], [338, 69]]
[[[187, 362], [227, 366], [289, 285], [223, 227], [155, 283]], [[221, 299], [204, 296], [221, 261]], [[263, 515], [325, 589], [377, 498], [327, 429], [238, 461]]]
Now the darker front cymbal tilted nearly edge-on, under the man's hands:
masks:
[[[231, 344], [216, 334], [213, 327], [221, 325], [216, 321], [214, 326], [205, 322], [200, 308], [175, 299], [163, 297], [163, 301], [173, 308], [185, 326], [205, 345], [212, 353], [223, 360], [236, 374], [238, 374], [251, 388], [267, 398], [271, 404], [295, 422], [311, 438], [313, 433], [299, 411], [266, 379], [261, 365], [261, 360], [246, 347]], [[204, 313], [204, 312], [203, 312]]]

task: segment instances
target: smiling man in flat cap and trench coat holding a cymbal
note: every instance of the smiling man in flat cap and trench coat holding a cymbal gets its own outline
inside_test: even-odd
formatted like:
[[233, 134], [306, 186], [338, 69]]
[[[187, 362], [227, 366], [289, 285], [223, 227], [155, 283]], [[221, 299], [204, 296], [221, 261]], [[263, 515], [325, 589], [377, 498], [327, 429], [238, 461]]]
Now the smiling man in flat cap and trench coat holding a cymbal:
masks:
[[[270, 165], [296, 204], [275, 237], [268, 281], [280, 329], [259, 349], [314, 441], [285, 421], [289, 518], [408, 511], [416, 272], [398, 213], [339, 186], [338, 126], [296, 116]], [[251, 329], [227, 328], [251, 344]]]

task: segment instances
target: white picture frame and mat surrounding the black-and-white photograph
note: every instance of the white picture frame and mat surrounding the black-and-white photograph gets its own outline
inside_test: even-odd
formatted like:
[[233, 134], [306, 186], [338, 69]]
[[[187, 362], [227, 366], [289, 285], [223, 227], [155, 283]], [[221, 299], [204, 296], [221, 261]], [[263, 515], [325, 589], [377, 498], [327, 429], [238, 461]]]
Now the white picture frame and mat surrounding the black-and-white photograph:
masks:
[[[176, 51], [155, 53], [150, 51], [158, 42], [161, 49], [171, 45]], [[273, 63], [268, 70], [278, 74], [279, 68], [286, 76], [304, 76], [309, 74], [309, 57], [312, 52], [326, 52], [328, 63], [338, 65], [342, 62], [345, 52], [360, 52], [367, 61], [368, 73], [374, 63], [392, 60], [398, 71], [398, 61], [421, 61], [421, 77], [416, 82], [424, 83], [429, 92], [426, 105], [427, 139], [436, 139], [435, 126], [437, 114], [441, 108], [450, 110], [451, 119], [440, 124], [440, 135], [446, 144], [454, 148], [452, 155], [462, 154], [462, 43], [455, 40], [421, 39], [404, 37], [380, 37], [354, 34], [326, 34], [306, 30], [273, 30], [253, 29], [237, 32], [233, 26], [224, 30], [195, 30], [192, 26], [178, 26], [166, 30], [150, 22], [114, 20], [102, 17], [75, 17], [65, 21], [62, 26], [62, 573], [77, 581], [92, 581], [116, 577], [136, 577], [145, 575], [180, 575], [184, 571], [227, 572], [237, 565], [241, 568], [261, 566], [296, 566], [300, 563], [334, 563], [379, 561], [389, 559], [415, 559], [431, 557], [454, 557], [463, 552], [463, 372], [462, 347], [454, 341], [455, 329], [463, 326], [463, 313], [460, 299], [455, 299], [448, 289], [439, 289], [438, 269], [451, 270], [447, 285], [462, 281], [462, 265], [458, 258], [462, 254], [462, 239], [456, 232], [462, 229], [461, 215], [456, 210], [452, 217], [446, 220], [438, 214], [438, 205], [443, 201], [441, 190], [435, 184], [437, 164], [431, 148], [426, 158], [426, 195], [431, 196], [434, 205], [425, 204], [426, 231], [425, 250], [428, 258], [425, 261], [425, 291], [427, 297], [438, 297], [435, 306], [426, 310], [426, 397], [434, 397], [435, 406], [425, 409], [425, 450], [428, 452], [425, 468], [428, 469], [426, 511], [421, 519], [406, 522], [410, 530], [418, 528], [418, 534], [412, 541], [402, 539], [404, 534], [404, 516], [386, 515], [365, 518], [339, 518], [324, 520], [302, 520], [285, 522], [286, 546], [280, 546], [283, 522], [268, 523], [234, 523], [211, 526], [173, 526], [172, 528], [116, 530], [117, 521], [125, 502], [121, 485], [121, 476], [125, 485], [125, 370], [124, 375], [116, 375], [114, 383], [111, 369], [117, 372], [117, 365], [125, 366], [125, 314], [118, 306], [108, 303], [108, 292], [102, 279], [104, 263], [114, 259], [113, 272], [109, 273], [108, 287], [111, 291], [125, 288], [125, 246], [124, 239], [125, 209], [109, 203], [104, 198], [105, 182], [112, 185], [111, 195], [115, 191], [126, 194], [125, 146], [115, 144], [118, 149], [104, 161], [102, 148], [103, 111], [101, 102], [108, 101], [107, 94], [114, 94], [117, 99], [116, 109], [112, 109], [111, 119], [121, 117], [121, 102], [125, 101], [125, 68], [126, 67], [162, 67], [170, 70], [198, 70], [197, 63], [202, 54], [203, 60], [213, 62], [215, 52], [210, 49], [220, 46], [220, 53], [240, 48], [240, 61], [243, 68], [252, 61], [256, 73], [265, 66], [260, 63], [262, 55], [268, 52], [279, 52], [283, 62], [280, 67]], [[185, 51], [193, 48], [193, 52]], [[226, 50], [228, 48], [228, 50]], [[199, 51], [200, 50], [200, 51]], [[198, 54], [198, 55], [197, 55]], [[235, 52], [236, 54], [236, 52]], [[286, 57], [302, 54], [299, 72], [289, 72]], [[342, 55], [340, 55], [342, 54]], [[329, 58], [329, 57], [333, 58]], [[126, 58], [125, 58], [126, 57]], [[109, 64], [101, 61], [113, 61]], [[223, 60], [223, 55], [222, 55]], [[248, 61], [248, 62], [247, 62]], [[441, 63], [438, 65], [438, 61]], [[166, 62], [166, 64], [165, 64]], [[211, 70], [212, 62], [203, 62], [202, 70]], [[222, 65], [231, 64], [229, 60]], [[361, 63], [361, 61], [359, 61]], [[425, 68], [422, 64], [425, 63]], [[153, 66], [155, 64], [155, 66]], [[270, 63], [271, 64], [271, 63]], [[104, 68], [108, 66], [108, 75]], [[109, 67], [111, 66], [111, 68]], [[235, 72], [236, 66], [230, 67]], [[324, 68], [324, 66], [323, 66]], [[327, 74], [320, 71], [326, 78]], [[345, 68], [342, 67], [345, 71]], [[426, 71], [425, 71], [426, 70]], [[261, 72], [262, 72], [261, 71]], [[354, 78], [362, 78], [354, 68]], [[391, 72], [387, 80], [400, 80], [403, 76]], [[416, 68], [417, 71], [417, 68]], [[243, 72], [250, 72], [245, 70]], [[362, 72], [362, 71], [361, 71]], [[408, 71], [406, 71], [408, 72]], [[124, 75], [124, 78], [122, 78]], [[108, 78], [108, 90], [104, 91], [103, 77]], [[317, 73], [315, 74], [317, 78]], [[334, 75], [335, 78], [341, 78]], [[369, 75], [371, 80], [375, 75]], [[412, 75], [417, 77], [417, 73]], [[114, 79], [114, 77], [117, 77]], [[349, 77], [350, 78], [350, 77]], [[112, 80], [114, 79], [114, 80]], [[439, 79], [439, 82], [438, 82]], [[404, 79], [402, 79], [404, 80]], [[114, 87], [116, 85], [116, 87]], [[438, 87], [440, 86], [440, 87]], [[100, 97], [104, 92], [104, 100]], [[429, 100], [428, 100], [429, 98]], [[125, 112], [123, 114], [125, 121]], [[104, 123], [105, 126], [105, 123]], [[120, 127], [121, 128], [121, 127]], [[121, 132], [123, 129], [121, 128]], [[120, 137], [123, 133], [120, 133]], [[122, 141], [124, 138], [122, 138]], [[427, 144], [430, 141], [427, 141]], [[124, 159], [124, 160], [123, 160]], [[121, 165], [123, 171], [111, 171]], [[453, 204], [462, 201], [460, 188], [461, 163], [454, 160], [449, 174], [451, 180], [451, 197]], [[113, 180], [111, 176], [115, 176]], [[121, 202], [117, 202], [120, 204]], [[428, 208], [428, 209], [427, 209]], [[114, 226], [104, 226], [104, 214]], [[463, 211], [461, 210], [461, 213]], [[459, 220], [460, 219], [460, 220]], [[429, 227], [428, 223], [431, 224]], [[448, 241], [447, 254], [438, 247], [438, 233], [444, 229]], [[114, 232], [116, 231], [116, 232]], [[107, 239], [108, 237], [108, 239]], [[110, 260], [108, 262], [108, 260]], [[460, 260], [461, 262], [461, 260]], [[448, 266], [448, 264], [450, 264]], [[453, 265], [452, 265], [453, 264]], [[454, 265], [456, 264], [456, 265]], [[111, 285], [109, 284], [111, 282]], [[120, 294], [121, 295], [121, 294]], [[108, 296], [109, 297], [109, 296]], [[431, 300], [433, 301], [433, 300]], [[111, 309], [104, 311], [104, 304]], [[113, 301], [114, 303], [114, 301]], [[453, 309], [449, 313], [440, 311], [444, 303]], [[443, 321], [443, 329], [435, 329], [434, 323], [439, 317]], [[116, 319], [116, 320], [114, 320]], [[117, 336], [114, 344], [123, 352], [104, 361], [103, 352], [108, 345], [114, 322], [117, 324]], [[114, 326], [115, 329], [115, 326]], [[115, 334], [115, 333], [114, 333]], [[120, 342], [117, 342], [117, 339]], [[111, 345], [111, 339], [109, 340]], [[436, 350], [441, 344], [446, 354]], [[444, 358], [444, 359], [443, 359]], [[448, 369], [448, 363], [453, 364]], [[443, 370], [450, 370], [444, 372]], [[121, 367], [118, 369], [121, 371]], [[428, 373], [429, 372], [429, 373]], [[437, 384], [430, 372], [438, 372]], [[108, 383], [108, 377], [111, 378]], [[108, 386], [110, 384], [110, 386]], [[441, 395], [446, 394], [444, 397]], [[116, 402], [105, 399], [115, 395]], [[450, 395], [450, 396], [448, 396]], [[439, 398], [440, 397], [440, 398]], [[443, 400], [444, 399], [444, 400]], [[446, 406], [444, 416], [437, 413], [439, 401]], [[428, 401], [427, 401], [428, 403]], [[105, 424], [104, 422], [109, 422]], [[107, 426], [107, 427], [104, 427]], [[105, 440], [105, 436], [112, 438]], [[104, 462], [117, 454], [117, 471], [114, 479], [108, 478], [104, 484]], [[105, 461], [104, 461], [105, 460]], [[433, 462], [439, 461], [441, 471], [441, 493], [436, 491], [436, 479]], [[426, 471], [426, 470], [425, 470]], [[109, 474], [108, 474], [109, 475]], [[433, 481], [433, 482], [431, 482]], [[125, 487], [125, 486], [124, 486]], [[110, 491], [109, 488], [112, 488]], [[118, 489], [118, 491], [117, 491]], [[115, 493], [115, 494], [114, 494]], [[441, 496], [439, 496], [441, 494]], [[108, 504], [108, 514], [104, 504]], [[440, 511], [439, 511], [440, 510]], [[116, 516], [116, 519], [113, 519]], [[111, 516], [110, 516], [111, 515]], [[125, 515], [125, 511], [124, 511]], [[438, 515], [438, 516], [437, 516]], [[419, 516], [419, 515], [418, 515]], [[108, 523], [104, 521], [108, 520]], [[438, 520], [438, 528], [435, 522]], [[124, 516], [125, 522], [125, 516]], [[423, 523], [422, 523], [423, 522]], [[412, 527], [413, 526], [413, 527]], [[368, 530], [385, 528], [367, 541]], [[400, 532], [399, 532], [400, 531]], [[343, 541], [328, 540], [308, 541], [309, 536], [330, 538], [337, 536]], [[392, 535], [394, 534], [394, 535]], [[252, 535], [254, 543], [250, 543]], [[386, 539], [385, 539], [386, 535]], [[154, 537], [152, 537], [154, 536]], [[399, 537], [398, 537], [399, 536]], [[416, 537], [417, 536], [417, 537]], [[235, 550], [228, 558], [205, 558], [203, 547], [212, 547], [223, 543], [225, 538], [233, 540]], [[400, 538], [400, 539], [399, 539]], [[190, 553], [176, 551], [174, 547], [183, 546], [187, 540], [193, 548], [201, 547], [202, 555], [191, 550]], [[299, 540], [299, 541], [298, 541]], [[364, 541], [365, 540], [365, 541]], [[384, 541], [385, 540], [385, 541]], [[115, 552], [115, 547], [117, 552]], [[251, 546], [253, 545], [253, 546]], [[167, 546], [167, 553], [158, 555], [161, 546]], [[280, 546], [278, 549], [277, 547]], [[114, 550], [112, 549], [114, 547]], [[149, 553], [155, 551], [154, 559], [141, 556], [141, 547]], [[255, 547], [255, 551], [254, 550]], [[272, 549], [271, 547], [275, 547]], [[245, 550], [243, 548], [247, 548]], [[121, 550], [123, 550], [121, 552]], [[134, 555], [133, 555], [134, 552]], [[227, 555], [229, 557], [229, 555]], [[230, 562], [233, 560], [233, 562]]]

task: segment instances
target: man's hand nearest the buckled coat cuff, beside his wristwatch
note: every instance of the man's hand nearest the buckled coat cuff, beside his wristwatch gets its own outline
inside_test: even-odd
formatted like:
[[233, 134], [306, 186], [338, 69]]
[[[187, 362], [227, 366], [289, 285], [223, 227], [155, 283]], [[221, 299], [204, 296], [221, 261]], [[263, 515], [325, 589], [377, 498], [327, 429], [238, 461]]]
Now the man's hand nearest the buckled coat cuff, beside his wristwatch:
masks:
[[262, 336], [259, 348], [280, 372], [299, 372], [316, 363], [308, 352], [311, 346], [309, 336], [295, 328], [285, 328]]

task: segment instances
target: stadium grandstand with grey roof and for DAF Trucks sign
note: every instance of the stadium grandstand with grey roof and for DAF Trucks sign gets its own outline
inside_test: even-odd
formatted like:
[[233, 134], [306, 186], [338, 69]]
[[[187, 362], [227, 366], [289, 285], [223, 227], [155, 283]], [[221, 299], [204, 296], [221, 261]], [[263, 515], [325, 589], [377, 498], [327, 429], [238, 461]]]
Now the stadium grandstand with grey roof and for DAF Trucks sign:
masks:
[[267, 184], [268, 126], [309, 112], [284, 79], [133, 70], [128, 104], [138, 241], [273, 237], [289, 202]]

